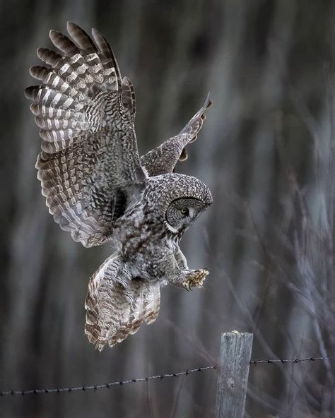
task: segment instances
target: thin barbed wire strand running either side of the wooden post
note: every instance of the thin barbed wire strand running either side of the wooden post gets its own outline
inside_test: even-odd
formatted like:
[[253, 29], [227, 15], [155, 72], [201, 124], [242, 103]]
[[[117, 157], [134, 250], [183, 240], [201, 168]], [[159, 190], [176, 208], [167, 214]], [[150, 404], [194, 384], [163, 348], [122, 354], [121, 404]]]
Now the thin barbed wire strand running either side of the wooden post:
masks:
[[[305, 357], [303, 359], [265, 359], [265, 360], [251, 360], [249, 364], [257, 365], [257, 364], [274, 364], [274, 363], [301, 363], [301, 362], [318, 362], [318, 361], [325, 361], [329, 360], [332, 357]], [[196, 373], [198, 371], [207, 371], [218, 369], [218, 365], [213, 366], [206, 366], [206, 367], [198, 367], [197, 369], [187, 369], [185, 371], [180, 371], [178, 373], [171, 373], [171, 374], [158, 374], [155, 376], [147, 376], [142, 378], [133, 378], [127, 381], [114, 381], [110, 383], [102, 383], [100, 385], [84, 385], [84, 386], [76, 386], [72, 388], [51, 388], [51, 389], [30, 389], [30, 390], [0, 390], [0, 398], [4, 396], [25, 396], [25, 395], [44, 395], [46, 393], [71, 393], [76, 392], [78, 390], [99, 390], [99, 389], [110, 389], [112, 386], [122, 386], [128, 383], [139, 383], [139, 382], [146, 382], [151, 381], [153, 379], [160, 379], [163, 380], [164, 378], [171, 378], [171, 377], [180, 377], [180, 376], [188, 376], [189, 374]]]

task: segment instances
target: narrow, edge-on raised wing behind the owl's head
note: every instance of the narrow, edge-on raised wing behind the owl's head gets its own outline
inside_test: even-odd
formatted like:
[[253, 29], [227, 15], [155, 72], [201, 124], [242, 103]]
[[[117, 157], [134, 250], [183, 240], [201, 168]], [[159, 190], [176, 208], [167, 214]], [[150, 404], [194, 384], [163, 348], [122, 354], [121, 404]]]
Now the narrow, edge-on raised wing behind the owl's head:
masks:
[[196, 136], [206, 119], [205, 110], [209, 106], [211, 106], [211, 101], [208, 93], [204, 105], [177, 136], [173, 136], [141, 157], [141, 165], [146, 167], [150, 177], [172, 173], [178, 160], [184, 161], [187, 159], [185, 147], [188, 143], [196, 140]]

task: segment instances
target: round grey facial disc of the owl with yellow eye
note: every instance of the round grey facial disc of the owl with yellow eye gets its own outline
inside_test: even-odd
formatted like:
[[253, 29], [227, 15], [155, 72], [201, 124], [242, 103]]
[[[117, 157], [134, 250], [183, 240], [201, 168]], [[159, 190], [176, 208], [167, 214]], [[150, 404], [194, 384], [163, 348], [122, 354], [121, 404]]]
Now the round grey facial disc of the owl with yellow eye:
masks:
[[170, 203], [165, 214], [165, 225], [177, 234], [189, 227], [199, 214], [206, 209], [208, 203], [197, 198], [179, 198]]

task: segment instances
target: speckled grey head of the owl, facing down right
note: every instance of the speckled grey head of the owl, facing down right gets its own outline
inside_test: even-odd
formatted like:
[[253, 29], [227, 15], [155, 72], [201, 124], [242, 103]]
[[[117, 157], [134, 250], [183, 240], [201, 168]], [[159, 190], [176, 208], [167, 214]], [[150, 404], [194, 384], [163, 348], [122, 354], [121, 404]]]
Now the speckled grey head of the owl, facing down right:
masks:
[[172, 234], [182, 234], [213, 201], [208, 187], [195, 177], [162, 174], [148, 183], [147, 207]]

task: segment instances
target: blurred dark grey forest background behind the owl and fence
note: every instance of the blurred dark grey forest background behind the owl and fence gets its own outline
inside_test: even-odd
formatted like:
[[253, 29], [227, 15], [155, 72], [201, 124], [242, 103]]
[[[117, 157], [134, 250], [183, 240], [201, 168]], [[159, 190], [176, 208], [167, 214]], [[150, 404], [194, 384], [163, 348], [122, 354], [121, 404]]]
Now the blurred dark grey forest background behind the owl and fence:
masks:
[[[88, 1], [0, 4], [0, 389], [105, 383], [213, 364], [221, 332], [252, 358], [335, 354], [335, 2]], [[134, 83], [141, 153], [213, 106], [177, 169], [214, 202], [182, 241], [205, 289], [163, 289], [158, 320], [112, 350], [84, 335], [88, 278], [110, 255], [47, 213], [38, 130], [23, 95], [49, 29], [110, 41]], [[111, 390], [0, 399], [0, 417], [213, 417], [216, 372]], [[247, 417], [334, 417], [334, 362], [253, 366]]]

